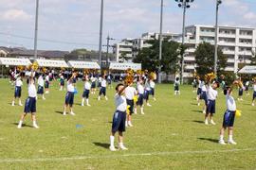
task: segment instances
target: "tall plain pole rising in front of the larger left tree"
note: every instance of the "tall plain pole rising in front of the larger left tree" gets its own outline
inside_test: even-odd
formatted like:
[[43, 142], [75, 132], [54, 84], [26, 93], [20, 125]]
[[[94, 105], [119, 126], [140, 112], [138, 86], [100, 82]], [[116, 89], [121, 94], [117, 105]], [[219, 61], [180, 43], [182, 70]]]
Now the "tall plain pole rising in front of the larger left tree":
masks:
[[161, 0], [160, 9], [160, 34], [159, 34], [159, 67], [158, 67], [158, 83], [162, 82], [161, 78], [161, 59], [162, 59], [162, 44], [163, 44], [163, 0]]

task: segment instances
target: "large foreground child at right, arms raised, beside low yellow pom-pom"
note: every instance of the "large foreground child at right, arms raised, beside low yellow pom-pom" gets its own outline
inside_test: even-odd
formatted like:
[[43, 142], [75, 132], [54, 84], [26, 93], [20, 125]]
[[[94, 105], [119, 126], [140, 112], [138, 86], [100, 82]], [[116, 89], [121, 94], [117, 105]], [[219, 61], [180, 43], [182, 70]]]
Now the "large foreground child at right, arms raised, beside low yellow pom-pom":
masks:
[[234, 98], [232, 97], [232, 88], [227, 87], [227, 89], [224, 90], [224, 94], [226, 95], [227, 110], [223, 117], [223, 125], [220, 130], [219, 144], [226, 144], [224, 141], [224, 133], [227, 128], [229, 128], [228, 144], [236, 144], [236, 142], [233, 140], [233, 126], [235, 120], [236, 104]]

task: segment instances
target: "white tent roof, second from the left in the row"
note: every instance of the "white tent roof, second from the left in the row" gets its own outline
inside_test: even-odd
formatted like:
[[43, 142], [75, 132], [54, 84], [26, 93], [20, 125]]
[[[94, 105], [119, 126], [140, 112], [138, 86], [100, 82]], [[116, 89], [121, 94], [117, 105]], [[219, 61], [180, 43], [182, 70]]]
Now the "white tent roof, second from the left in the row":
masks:
[[67, 68], [68, 65], [64, 60], [55, 60], [55, 59], [36, 59], [40, 67], [55, 67], [55, 68]]

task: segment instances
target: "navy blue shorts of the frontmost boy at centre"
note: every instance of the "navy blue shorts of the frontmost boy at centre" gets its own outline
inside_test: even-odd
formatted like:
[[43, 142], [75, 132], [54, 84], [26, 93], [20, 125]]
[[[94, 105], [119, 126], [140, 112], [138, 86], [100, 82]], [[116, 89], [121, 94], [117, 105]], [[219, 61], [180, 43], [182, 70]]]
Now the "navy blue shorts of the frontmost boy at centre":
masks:
[[125, 131], [126, 112], [117, 110], [113, 115], [112, 132]]

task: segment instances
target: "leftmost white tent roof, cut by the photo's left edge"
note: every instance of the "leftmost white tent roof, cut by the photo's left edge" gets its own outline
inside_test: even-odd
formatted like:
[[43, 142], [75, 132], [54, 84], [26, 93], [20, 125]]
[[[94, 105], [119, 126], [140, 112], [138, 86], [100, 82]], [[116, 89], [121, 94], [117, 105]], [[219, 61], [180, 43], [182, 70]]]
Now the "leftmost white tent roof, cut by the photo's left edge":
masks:
[[16, 59], [16, 58], [0, 58], [0, 65], [12, 65], [12, 66], [27, 66], [30, 65], [31, 62], [29, 59]]

